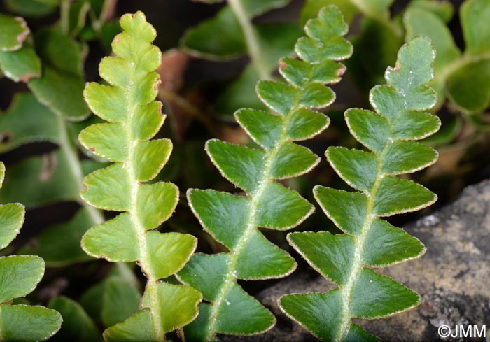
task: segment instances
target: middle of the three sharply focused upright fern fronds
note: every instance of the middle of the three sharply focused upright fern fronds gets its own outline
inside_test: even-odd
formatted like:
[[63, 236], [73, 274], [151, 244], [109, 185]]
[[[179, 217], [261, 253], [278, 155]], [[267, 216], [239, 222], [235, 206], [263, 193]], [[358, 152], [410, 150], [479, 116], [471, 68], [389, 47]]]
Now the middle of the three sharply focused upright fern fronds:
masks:
[[206, 151], [223, 177], [247, 194], [236, 196], [215, 190], [188, 191], [188, 201], [202, 227], [228, 248], [228, 253], [194, 255], [178, 273], [179, 280], [200, 290], [209, 304], [184, 328], [188, 341], [213, 341], [216, 334], [252, 335], [265, 332], [274, 315], [239, 287], [237, 280], [281, 278], [296, 263], [288, 253], [267, 241], [257, 229], [287, 230], [314, 211], [300, 194], [274, 180], [307, 173], [319, 158], [296, 145], [319, 134], [329, 119], [312, 108], [323, 108], [335, 94], [325, 85], [337, 83], [345, 67], [337, 61], [352, 47], [342, 13], [331, 6], [305, 27], [295, 50], [300, 59], [283, 58], [279, 72], [286, 83], [261, 81], [260, 100], [275, 113], [241, 109], [237, 122], [262, 148], [248, 148], [219, 140]]

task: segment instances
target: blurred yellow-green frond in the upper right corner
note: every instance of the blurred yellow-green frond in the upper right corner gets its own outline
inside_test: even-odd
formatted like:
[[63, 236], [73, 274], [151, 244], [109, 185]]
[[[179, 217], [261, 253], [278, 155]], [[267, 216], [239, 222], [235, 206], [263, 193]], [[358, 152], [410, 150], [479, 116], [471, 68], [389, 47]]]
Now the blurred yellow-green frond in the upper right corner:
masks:
[[[419, 1], [423, 3], [423, 1]], [[430, 83], [437, 91], [442, 106], [447, 96], [462, 111], [479, 113], [490, 104], [490, 29], [487, 18], [490, 3], [468, 0], [460, 10], [465, 52], [454, 43], [444, 17], [437, 13], [409, 6], [404, 15], [407, 40], [418, 34], [430, 37], [435, 46], [435, 78]]]

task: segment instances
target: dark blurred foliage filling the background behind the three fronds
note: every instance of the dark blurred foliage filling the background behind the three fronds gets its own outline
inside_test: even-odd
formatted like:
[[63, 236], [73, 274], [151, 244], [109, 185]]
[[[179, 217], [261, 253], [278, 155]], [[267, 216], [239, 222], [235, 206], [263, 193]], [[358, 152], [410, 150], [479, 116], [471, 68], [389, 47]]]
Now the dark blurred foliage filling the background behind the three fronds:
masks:
[[[45, 259], [45, 276], [27, 298], [64, 316], [62, 330], [53, 339], [76, 341], [73, 336], [84, 336], [97, 341], [99, 330], [137, 312], [143, 290], [144, 276], [133, 265], [94, 261], [79, 244], [87, 229], [115, 216], [87, 206], [78, 196], [83, 176], [107, 164], [83, 148], [77, 136], [99, 122], [83, 101], [83, 87], [86, 81], [99, 81], [98, 63], [111, 53], [111, 41], [120, 32], [120, 15], [143, 10], [159, 33], [155, 45], [163, 55], [158, 98], [168, 121], [157, 138], [171, 138], [174, 152], [155, 181], [171, 180], [181, 190], [237, 191], [216, 172], [204, 143], [219, 138], [256, 147], [232, 114], [244, 106], [265, 108], [254, 94], [256, 80], [278, 78], [277, 60], [290, 55], [302, 25], [322, 6], [341, 8], [351, 27], [347, 38], [354, 52], [346, 62], [344, 80], [333, 86], [337, 101], [325, 111], [332, 120], [330, 128], [302, 142], [316, 155], [330, 145], [359, 146], [342, 113], [351, 107], [368, 108], [368, 90], [383, 83], [384, 70], [394, 65], [402, 43], [416, 34], [428, 34], [437, 50], [431, 86], [440, 95], [437, 115], [442, 127], [425, 142], [440, 153], [440, 161], [410, 177], [435, 190], [437, 205], [442, 205], [464, 185], [490, 176], [490, 5], [485, 0], [467, 0], [461, 6], [462, 2], [3, 1], [0, 25], [5, 15], [19, 15], [25, 21], [19, 22], [20, 41], [0, 46], [0, 153], [7, 166], [0, 203], [21, 202], [27, 215], [18, 238], [0, 253]], [[227, 29], [222, 29], [223, 23]], [[216, 31], [219, 34], [209, 34]], [[347, 188], [325, 161], [308, 175], [283, 184], [311, 203], [314, 185]], [[413, 218], [413, 214], [402, 215], [389, 222], [402, 225]], [[319, 213], [297, 230], [319, 227], [338, 232]], [[200, 252], [225, 252], [200, 227], [183, 193], [176, 213], [162, 229], [195, 235]], [[285, 234], [265, 232], [265, 236], [300, 260]], [[307, 266], [300, 262], [298, 268]], [[239, 285], [253, 295], [274, 281], [239, 280]]]

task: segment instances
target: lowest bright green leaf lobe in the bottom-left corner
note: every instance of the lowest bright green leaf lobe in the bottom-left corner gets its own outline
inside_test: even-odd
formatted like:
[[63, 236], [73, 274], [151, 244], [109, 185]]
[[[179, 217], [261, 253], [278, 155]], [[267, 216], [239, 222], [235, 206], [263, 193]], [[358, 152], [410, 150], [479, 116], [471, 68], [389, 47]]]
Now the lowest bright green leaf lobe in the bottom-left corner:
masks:
[[62, 325], [57, 311], [43, 306], [0, 305], [1, 341], [46, 341]]

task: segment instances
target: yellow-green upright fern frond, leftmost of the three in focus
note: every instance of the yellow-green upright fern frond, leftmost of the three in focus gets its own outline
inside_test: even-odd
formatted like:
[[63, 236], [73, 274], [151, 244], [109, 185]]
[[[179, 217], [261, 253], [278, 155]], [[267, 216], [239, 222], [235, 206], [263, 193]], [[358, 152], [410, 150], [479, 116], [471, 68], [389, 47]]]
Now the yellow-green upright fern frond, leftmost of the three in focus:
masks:
[[106, 341], [165, 341], [167, 332], [194, 320], [202, 295], [160, 279], [182, 269], [197, 241], [155, 230], [179, 198], [172, 183], [143, 183], [158, 175], [172, 150], [168, 140], [151, 140], [165, 120], [162, 104], [153, 101], [161, 52], [151, 44], [156, 32], [143, 13], [123, 15], [120, 24], [123, 33], [112, 45], [116, 56], [105, 57], [99, 67], [109, 85], [89, 83], [84, 91], [90, 109], [107, 122], [87, 127], [79, 139], [94, 155], [114, 162], [85, 177], [81, 197], [96, 208], [123, 213], [87, 231], [82, 248], [92, 257], [138, 262], [148, 280], [141, 310], [109, 327]]

